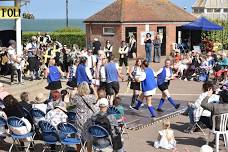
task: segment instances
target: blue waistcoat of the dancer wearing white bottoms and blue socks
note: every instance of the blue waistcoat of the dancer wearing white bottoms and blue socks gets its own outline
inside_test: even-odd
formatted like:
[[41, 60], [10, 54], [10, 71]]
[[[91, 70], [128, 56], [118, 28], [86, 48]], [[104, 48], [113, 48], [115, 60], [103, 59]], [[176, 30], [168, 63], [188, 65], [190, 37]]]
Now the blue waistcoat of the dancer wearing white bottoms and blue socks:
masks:
[[142, 92], [151, 91], [157, 88], [157, 82], [154, 76], [154, 72], [151, 68], [145, 69], [146, 79], [142, 81]]

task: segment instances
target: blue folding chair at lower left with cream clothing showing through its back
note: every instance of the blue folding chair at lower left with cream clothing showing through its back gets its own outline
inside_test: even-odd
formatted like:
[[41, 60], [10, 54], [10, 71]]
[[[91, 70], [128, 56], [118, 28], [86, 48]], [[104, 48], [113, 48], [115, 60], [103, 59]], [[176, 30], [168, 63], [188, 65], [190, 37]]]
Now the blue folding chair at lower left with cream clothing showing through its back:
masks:
[[[26, 123], [21, 119], [21, 118], [18, 118], [18, 117], [9, 117], [8, 120], [7, 120], [7, 123], [8, 123], [8, 127], [9, 129], [11, 130], [11, 137], [13, 139], [13, 143], [12, 145], [10, 146], [10, 149], [9, 151], [11, 152], [13, 146], [16, 144], [16, 142], [20, 142], [21, 140], [27, 140], [27, 138], [30, 138], [31, 141], [28, 141], [29, 144], [28, 146], [26, 147], [26, 152], [29, 150], [30, 148], [30, 145], [33, 145], [34, 146], [34, 142], [33, 142], [33, 139], [34, 139], [34, 136], [35, 136], [35, 133], [34, 132], [29, 132], [29, 133], [26, 133], [26, 134], [21, 134], [21, 135], [18, 135], [18, 134], [15, 134], [13, 133], [12, 131], [12, 128], [16, 129], [16, 128], [20, 128], [20, 127], [26, 127]], [[17, 148], [17, 146], [16, 146]]]

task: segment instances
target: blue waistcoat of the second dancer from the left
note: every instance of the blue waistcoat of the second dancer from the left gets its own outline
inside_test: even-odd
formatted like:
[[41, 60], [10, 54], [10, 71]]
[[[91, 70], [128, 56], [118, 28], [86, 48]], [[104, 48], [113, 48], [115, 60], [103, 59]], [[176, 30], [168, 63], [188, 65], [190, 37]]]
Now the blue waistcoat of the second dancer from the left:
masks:
[[88, 84], [91, 84], [91, 80], [89, 80], [87, 74], [86, 74], [86, 65], [85, 64], [79, 64], [76, 70], [76, 79], [77, 84], [81, 84], [83, 81], [87, 82]]

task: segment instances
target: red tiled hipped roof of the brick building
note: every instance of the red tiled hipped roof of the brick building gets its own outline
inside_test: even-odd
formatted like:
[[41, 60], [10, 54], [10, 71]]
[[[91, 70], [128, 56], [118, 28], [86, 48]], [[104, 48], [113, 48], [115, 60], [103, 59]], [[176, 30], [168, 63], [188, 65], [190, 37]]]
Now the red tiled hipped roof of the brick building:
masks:
[[116, 0], [85, 22], [189, 22], [195, 19], [168, 0]]

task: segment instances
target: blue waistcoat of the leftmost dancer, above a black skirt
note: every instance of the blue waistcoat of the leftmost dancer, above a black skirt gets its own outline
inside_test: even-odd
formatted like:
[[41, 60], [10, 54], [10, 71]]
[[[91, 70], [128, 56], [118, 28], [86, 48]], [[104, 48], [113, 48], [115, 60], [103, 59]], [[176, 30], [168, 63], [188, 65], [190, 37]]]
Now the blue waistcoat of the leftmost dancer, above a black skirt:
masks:
[[48, 83], [51, 83], [53, 81], [60, 81], [61, 73], [59, 72], [58, 68], [56, 66], [50, 66], [49, 67], [49, 74], [47, 77]]

